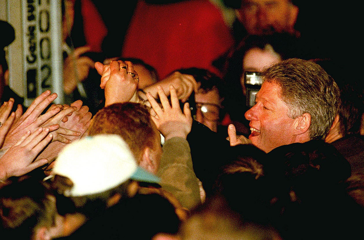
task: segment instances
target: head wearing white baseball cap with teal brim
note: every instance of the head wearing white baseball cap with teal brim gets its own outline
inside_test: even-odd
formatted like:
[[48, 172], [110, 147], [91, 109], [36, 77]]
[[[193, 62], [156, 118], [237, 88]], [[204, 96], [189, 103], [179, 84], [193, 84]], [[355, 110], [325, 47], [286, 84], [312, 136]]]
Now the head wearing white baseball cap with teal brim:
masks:
[[130, 197], [131, 180], [159, 183], [159, 178], [137, 165], [127, 143], [115, 134], [70, 143], [59, 153], [52, 174], [52, 187], [60, 199], [70, 198], [70, 206], [85, 214], [102, 212], [116, 193], [120, 199]]

